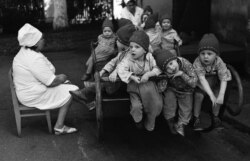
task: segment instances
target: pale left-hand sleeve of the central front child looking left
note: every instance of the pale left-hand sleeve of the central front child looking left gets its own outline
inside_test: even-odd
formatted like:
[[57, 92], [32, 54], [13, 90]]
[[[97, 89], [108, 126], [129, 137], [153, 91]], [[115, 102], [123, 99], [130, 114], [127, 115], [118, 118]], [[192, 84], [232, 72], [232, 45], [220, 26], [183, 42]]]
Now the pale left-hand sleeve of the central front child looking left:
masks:
[[117, 73], [123, 82], [125, 83], [130, 82], [130, 77], [133, 74], [133, 72], [130, 71], [130, 61], [128, 59], [123, 59], [117, 65]]

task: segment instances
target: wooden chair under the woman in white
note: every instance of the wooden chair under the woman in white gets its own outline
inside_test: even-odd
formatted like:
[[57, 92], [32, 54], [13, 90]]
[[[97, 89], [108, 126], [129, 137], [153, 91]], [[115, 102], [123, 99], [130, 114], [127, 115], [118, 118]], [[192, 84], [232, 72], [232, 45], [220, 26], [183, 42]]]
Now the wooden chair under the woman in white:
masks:
[[13, 83], [12, 78], [12, 68], [9, 70], [9, 83], [10, 83], [10, 90], [11, 90], [11, 96], [12, 96], [12, 103], [15, 113], [15, 119], [16, 119], [16, 126], [17, 126], [17, 135], [21, 136], [21, 118], [22, 117], [34, 117], [34, 116], [46, 116], [49, 133], [52, 133], [52, 126], [51, 126], [51, 117], [50, 117], [50, 111], [42, 111], [37, 108], [33, 107], [27, 107], [22, 105], [16, 96], [15, 86]]

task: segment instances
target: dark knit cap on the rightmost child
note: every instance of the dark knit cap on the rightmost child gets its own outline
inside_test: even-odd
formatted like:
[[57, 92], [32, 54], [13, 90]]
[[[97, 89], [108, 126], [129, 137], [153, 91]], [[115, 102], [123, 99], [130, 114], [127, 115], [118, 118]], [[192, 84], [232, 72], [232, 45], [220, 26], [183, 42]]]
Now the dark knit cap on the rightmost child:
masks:
[[220, 54], [219, 41], [213, 33], [203, 35], [198, 48], [198, 53], [202, 50], [212, 50], [217, 55]]

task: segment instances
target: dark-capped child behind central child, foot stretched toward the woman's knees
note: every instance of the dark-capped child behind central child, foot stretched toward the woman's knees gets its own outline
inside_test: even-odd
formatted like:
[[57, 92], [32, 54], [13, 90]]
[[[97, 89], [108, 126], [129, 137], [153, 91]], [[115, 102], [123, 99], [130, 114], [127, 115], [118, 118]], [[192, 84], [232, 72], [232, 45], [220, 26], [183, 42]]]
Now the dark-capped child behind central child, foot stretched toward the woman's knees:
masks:
[[[132, 25], [125, 25], [118, 29], [117, 31], [117, 47], [118, 47], [118, 55], [113, 58], [110, 62], [108, 62], [103, 69], [100, 71], [100, 75], [102, 76], [104, 73], [109, 74], [109, 79], [111, 82], [115, 82], [117, 79], [117, 71], [116, 66], [120, 61], [128, 54], [128, 45], [129, 45], [129, 38], [135, 31], [135, 26]], [[119, 84], [115, 83], [102, 83], [101, 89], [106, 90], [107, 93], [112, 94], [114, 93], [118, 88]], [[91, 103], [95, 99], [95, 84], [92, 84], [90, 86], [87, 86], [83, 89], [79, 89], [76, 91], [70, 91], [70, 94], [73, 96], [73, 98], [83, 104]], [[92, 108], [93, 109], [93, 108]], [[91, 110], [89, 108], [89, 110]]]

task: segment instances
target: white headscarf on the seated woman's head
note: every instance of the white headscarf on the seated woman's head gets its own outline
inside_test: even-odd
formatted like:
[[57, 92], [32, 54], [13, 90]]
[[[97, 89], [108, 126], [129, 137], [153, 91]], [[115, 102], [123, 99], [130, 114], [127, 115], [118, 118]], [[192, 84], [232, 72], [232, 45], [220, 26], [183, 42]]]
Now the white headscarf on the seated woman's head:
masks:
[[18, 42], [20, 46], [32, 47], [42, 38], [42, 32], [34, 26], [26, 23], [18, 31]]

